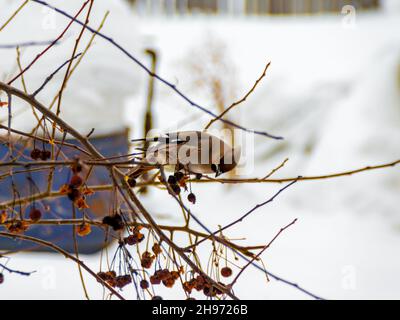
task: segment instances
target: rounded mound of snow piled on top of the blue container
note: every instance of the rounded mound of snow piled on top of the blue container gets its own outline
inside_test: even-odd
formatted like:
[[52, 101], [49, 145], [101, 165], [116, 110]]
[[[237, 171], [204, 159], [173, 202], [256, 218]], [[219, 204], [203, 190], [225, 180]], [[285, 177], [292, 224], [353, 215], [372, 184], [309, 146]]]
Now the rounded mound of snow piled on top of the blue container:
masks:
[[[49, 1], [52, 5], [60, 5], [59, 1]], [[82, 1], [63, 1], [62, 8], [72, 16], [82, 6]], [[0, 0], [0, 18], [5, 21], [16, 8], [19, 1]], [[79, 15], [79, 20], [85, 21], [88, 6]], [[135, 21], [128, 12], [125, 2], [96, 1], [92, 8], [90, 24], [97, 29], [106, 13], [110, 12], [102, 32], [116, 41], [124, 43], [129, 50], [139, 50], [138, 35]], [[66, 28], [69, 19], [45, 8], [37, 3], [29, 3], [0, 34], [0, 43], [21, 44], [24, 42], [52, 41]], [[45, 81], [47, 76], [60, 65], [71, 58], [75, 38], [81, 26], [73, 24], [60, 40], [45, 56], [25, 73], [25, 81], [29, 93], [33, 93]], [[85, 32], [77, 53], [82, 53], [92, 34]], [[45, 47], [21, 48], [21, 63], [25, 67]], [[1, 49], [0, 49], [1, 50]], [[10, 80], [16, 74], [15, 49], [1, 50], [0, 78]], [[128, 124], [124, 121], [123, 105], [126, 97], [138, 92], [141, 75], [134, 65], [126, 66], [128, 59], [121, 56], [117, 49], [100, 38], [94, 40], [93, 46], [83, 58], [74, 75], [68, 82], [63, 93], [61, 116], [83, 133], [96, 128], [96, 134], [107, 134], [122, 131]], [[49, 105], [60, 90], [66, 67], [53, 78], [46, 88], [38, 95], [38, 99]], [[20, 80], [15, 83], [22, 88]], [[5, 97], [2, 97], [3, 100]], [[14, 103], [15, 116], [13, 126], [23, 130], [33, 127], [34, 118], [29, 107], [20, 101]], [[57, 104], [53, 107], [55, 110]], [[21, 114], [19, 109], [26, 111]], [[0, 119], [7, 118], [7, 110], [0, 112]]]

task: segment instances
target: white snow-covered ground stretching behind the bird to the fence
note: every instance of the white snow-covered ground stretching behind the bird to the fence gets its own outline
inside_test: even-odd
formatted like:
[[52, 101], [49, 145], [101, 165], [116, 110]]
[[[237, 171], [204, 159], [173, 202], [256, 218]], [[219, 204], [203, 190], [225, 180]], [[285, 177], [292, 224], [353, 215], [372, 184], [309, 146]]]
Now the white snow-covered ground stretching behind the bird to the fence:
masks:
[[[140, 43], [128, 39], [124, 45], [155, 47], [160, 54], [159, 73], [204, 106], [213, 101], [207, 90], [191, 85], [194, 77], [186, 62], [193, 50], [204, 50], [206, 55], [209, 38], [226, 46], [226, 59], [235, 69], [236, 98], [272, 61], [256, 92], [231, 114], [247, 127], [285, 137], [284, 142], [256, 138], [254, 170], [248, 175], [265, 175], [286, 157], [290, 161], [276, 177], [327, 174], [400, 158], [399, 11], [357, 14], [354, 26], [343, 25], [342, 18], [131, 17], [137, 22]], [[123, 38], [127, 28], [113, 27], [121, 21], [109, 21], [108, 30]], [[144, 58], [141, 52], [138, 56]], [[110, 67], [113, 73], [118, 74], [116, 68], [122, 66], [124, 70], [132, 67], [134, 77], [143, 76], [131, 62], [116, 57]], [[83, 71], [81, 76], [86, 76]], [[99, 87], [91, 94], [107, 96], [119, 87], [113, 82], [106, 85], [103, 78], [96, 83]], [[141, 135], [145, 83], [126, 108], [136, 136]], [[208, 122], [207, 116], [191, 109], [167, 87], [157, 84], [156, 89], [155, 122], [161, 130], [201, 129]], [[280, 185], [201, 184], [194, 188], [198, 198], [194, 213], [216, 229], [269, 198]], [[268, 270], [324, 298], [399, 298], [399, 193], [398, 167], [300, 182], [227, 235], [245, 236], [243, 243], [264, 244], [297, 217], [298, 222], [263, 256]], [[179, 210], [164, 193], [152, 191], [143, 201], [152, 212], [169, 214], [177, 221]], [[97, 256], [83, 258], [95, 268], [98, 265]], [[82, 294], [76, 267], [62, 257], [16, 255], [9, 266], [29, 266], [38, 273], [28, 279], [7, 275], [1, 298]], [[98, 284], [87, 278], [91, 296], [100, 297]], [[263, 280], [259, 271], [249, 268], [236, 292], [241, 298], [306, 298], [294, 288], [276, 281], [264, 285]]]

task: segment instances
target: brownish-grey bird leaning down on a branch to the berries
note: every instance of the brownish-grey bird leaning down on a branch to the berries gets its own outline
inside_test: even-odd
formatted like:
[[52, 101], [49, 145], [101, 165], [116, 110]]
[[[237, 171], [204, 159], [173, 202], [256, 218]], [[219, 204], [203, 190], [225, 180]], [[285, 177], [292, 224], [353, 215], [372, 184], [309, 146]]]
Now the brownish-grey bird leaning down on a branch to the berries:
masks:
[[167, 171], [189, 174], [215, 174], [233, 170], [241, 156], [239, 146], [232, 146], [206, 131], [179, 131], [133, 142], [155, 143], [143, 150], [145, 157], [128, 173], [137, 178], [144, 172], [163, 166]]

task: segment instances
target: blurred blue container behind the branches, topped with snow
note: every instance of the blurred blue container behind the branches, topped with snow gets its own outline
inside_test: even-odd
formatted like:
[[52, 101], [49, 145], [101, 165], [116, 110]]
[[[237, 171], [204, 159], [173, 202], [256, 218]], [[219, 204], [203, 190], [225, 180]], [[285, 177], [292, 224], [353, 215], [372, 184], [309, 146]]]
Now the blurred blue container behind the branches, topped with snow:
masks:
[[[79, 145], [75, 140], [68, 140], [68, 143]], [[112, 157], [117, 155], [125, 155], [128, 153], [128, 139], [127, 131], [124, 133], [108, 135], [104, 137], [95, 137], [90, 139], [90, 142], [106, 157]], [[42, 148], [42, 142], [36, 142], [38, 148]], [[47, 150], [50, 149], [49, 145], [45, 145]], [[20, 161], [32, 161], [30, 158], [30, 152], [32, 147], [28, 147], [23, 150], [23, 143], [14, 145], [14, 156], [20, 155]], [[2, 161], [8, 161], [8, 147], [0, 145], [0, 159]], [[62, 152], [69, 158], [72, 159], [74, 156], [78, 156], [81, 159], [87, 157], [85, 154], [78, 150], [64, 146]], [[62, 160], [59, 157], [59, 160]], [[9, 168], [0, 167], [0, 177], [2, 174], [7, 173]], [[14, 171], [20, 171], [23, 168], [15, 168]], [[14, 183], [15, 189], [19, 192], [19, 197], [28, 197], [38, 192], [44, 192], [47, 187], [49, 170], [43, 170], [39, 172], [31, 173], [20, 173], [14, 174], [13, 178], [6, 177], [0, 180], [0, 203], [8, 202], [13, 199], [13, 188]], [[54, 173], [53, 180], [53, 191], [58, 191], [62, 185], [67, 184], [71, 178], [70, 168], [57, 167]], [[85, 173], [82, 173], [85, 176]], [[35, 182], [35, 185], [30, 183], [30, 179]], [[87, 183], [91, 185], [105, 185], [111, 184], [111, 178], [107, 168], [96, 166]], [[112, 200], [112, 194], [110, 191], [99, 191], [95, 194], [87, 197], [87, 203], [89, 209], [85, 209], [85, 214], [89, 219], [101, 220], [104, 216], [111, 213], [110, 203]], [[39, 200], [35, 202], [36, 208], [42, 211], [42, 220], [45, 219], [71, 219], [72, 218], [72, 202], [67, 196], [61, 196], [53, 199]], [[25, 218], [28, 218], [29, 210], [32, 204], [22, 208], [22, 214]], [[45, 210], [47, 208], [47, 210]], [[14, 207], [15, 211], [20, 212], [19, 206]], [[78, 209], [76, 211], [77, 218], [82, 217], [82, 211]], [[0, 226], [0, 230], [4, 227]], [[73, 244], [73, 226], [72, 225], [34, 225], [31, 226], [24, 234], [28, 236], [37, 237], [60, 246], [68, 252], [74, 252]], [[101, 250], [108, 243], [106, 242], [106, 235], [103, 228], [92, 226], [92, 232], [86, 237], [77, 236], [78, 247], [80, 253], [90, 254]], [[110, 236], [108, 237], [108, 242]], [[12, 240], [0, 237], [0, 250], [3, 251], [51, 251], [51, 249], [35, 245], [34, 243]]]

